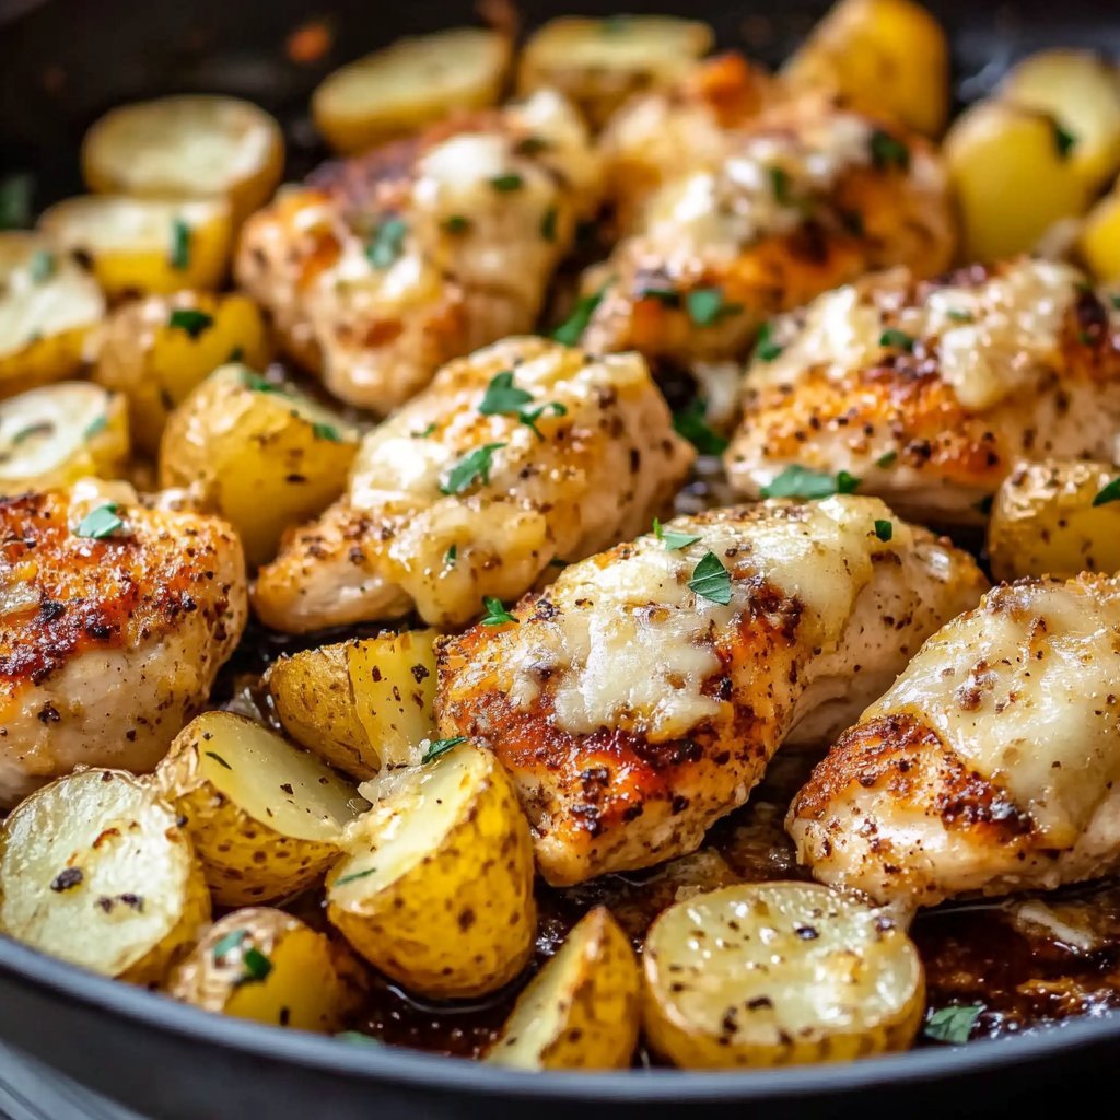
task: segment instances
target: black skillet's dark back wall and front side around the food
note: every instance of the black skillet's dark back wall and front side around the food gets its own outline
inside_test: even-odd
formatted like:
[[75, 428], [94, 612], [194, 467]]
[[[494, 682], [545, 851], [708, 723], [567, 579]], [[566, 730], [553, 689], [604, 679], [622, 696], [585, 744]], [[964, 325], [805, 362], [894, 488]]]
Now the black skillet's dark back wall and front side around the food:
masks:
[[[952, 31], [962, 101], [986, 92], [1032, 49], [1120, 49], [1120, 10], [1103, 0], [931, 6]], [[641, 10], [707, 19], [724, 45], [777, 62], [824, 7], [814, 0], [655, 0]], [[528, 0], [520, 8], [531, 25], [626, 4]], [[81, 188], [78, 143], [94, 118], [121, 101], [190, 90], [241, 94], [276, 113], [289, 134], [289, 171], [300, 175], [324, 155], [307, 119], [308, 95], [324, 73], [396, 36], [470, 16], [468, 3], [438, 0], [0, 0], [0, 175], [30, 171], [36, 206], [72, 194]], [[333, 49], [311, 65], [289, 60], [288, 35], [323, 17], [334, 31]], [[748, 1110], [767, 1120], [990, 1117], [1111, 1099], [1120, 1015], [846, 1066], [517, 1074], [218, 1018], [0, 937], [0, 1040], [153, 1120], [652, 1120]], [[65, 1111], [57, 1120], [77, 1117], [69, 1105]]]

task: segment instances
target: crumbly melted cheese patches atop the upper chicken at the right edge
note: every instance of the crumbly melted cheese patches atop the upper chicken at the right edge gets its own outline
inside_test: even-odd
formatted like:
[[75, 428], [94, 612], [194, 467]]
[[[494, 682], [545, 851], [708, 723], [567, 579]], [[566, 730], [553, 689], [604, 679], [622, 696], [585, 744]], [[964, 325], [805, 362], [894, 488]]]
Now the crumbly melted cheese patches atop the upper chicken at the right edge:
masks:
[[893, 326], [940, 355], [941, 376], [968, 409], [998, 404], [1034, 379], [1058, 348], [1062, 321], [1076, 297], [1080, 273], [1053, 261], [1021, 260], [979, 284], [945, 286], [923, 302], [895, 311], [889, 323], [876, 296], [904, 272], [884, 276], [876, 288], [839, 288], [814, 300], [799, 328], [778, 326], [787, 343], [772, 362], [749, 371], [759, 386], [796, 384], [810, 370], [839, 380], [881, 362], [880, 338]]

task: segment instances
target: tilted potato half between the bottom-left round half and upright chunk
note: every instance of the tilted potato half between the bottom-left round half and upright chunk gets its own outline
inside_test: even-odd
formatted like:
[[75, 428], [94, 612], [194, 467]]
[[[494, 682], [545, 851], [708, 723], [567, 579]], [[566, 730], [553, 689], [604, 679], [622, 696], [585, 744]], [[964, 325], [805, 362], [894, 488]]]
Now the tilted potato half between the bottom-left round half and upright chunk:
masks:
[[156, 768], [156, 784], [183, 814], [224, 906], [274, 902], [309, 886], [367, 808], [314, 755], [228, 711], [192, 720]]

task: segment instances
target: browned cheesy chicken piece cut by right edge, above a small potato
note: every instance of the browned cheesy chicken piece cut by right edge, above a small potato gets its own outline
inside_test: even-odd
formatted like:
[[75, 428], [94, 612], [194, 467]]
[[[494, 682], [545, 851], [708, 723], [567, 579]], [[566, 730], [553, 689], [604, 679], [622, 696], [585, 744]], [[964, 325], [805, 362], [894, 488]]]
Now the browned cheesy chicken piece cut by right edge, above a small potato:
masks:
[[799, 464], [967, 524], [1016, 460], [1110, 460], [1118, 433], [1120, 312], [1072, 265], [1021, 259], [892, 270], [776, 321], [726, 464], [748, 496]]

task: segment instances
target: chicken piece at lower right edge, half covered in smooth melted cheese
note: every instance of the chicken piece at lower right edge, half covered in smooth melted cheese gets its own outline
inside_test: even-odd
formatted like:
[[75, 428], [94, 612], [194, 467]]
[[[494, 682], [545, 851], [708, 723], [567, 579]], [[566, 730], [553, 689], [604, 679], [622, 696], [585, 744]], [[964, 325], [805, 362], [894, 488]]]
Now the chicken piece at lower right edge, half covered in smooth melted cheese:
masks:
[[903, 908], [1120, 865], [1120, 577], [1025, 580], [932, 637], [786, 821], [821, 881]]

